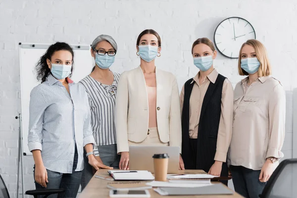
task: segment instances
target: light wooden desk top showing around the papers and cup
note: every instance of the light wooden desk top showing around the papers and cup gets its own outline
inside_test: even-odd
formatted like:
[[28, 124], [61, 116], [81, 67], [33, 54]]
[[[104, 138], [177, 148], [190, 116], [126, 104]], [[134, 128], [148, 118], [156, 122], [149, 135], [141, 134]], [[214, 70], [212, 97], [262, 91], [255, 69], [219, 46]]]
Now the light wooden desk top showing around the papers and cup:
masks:
[[[106, 172], [107, 170], [99, 169], [99, 172]], [[180, 170], [179, 174], [203, 174], [202, 170]], [[80, 194], [79, 198], [109, 198], [109, 191], [107, 183], [112, 183], [113, 181], [103, 180], [93, 177], [90, 183], [86, 186], [83, 192]], [[148, 181], [144, 181], [147, 183]], [[217, 183], [217, 182], [213, 182]], [[226, 187], [227, 188], [227, 187]], [[149, 194], [151, 198], [166, 198], [169, 196], [160, 196], [158, 193], [149, 189]], [[172, 196], [174, 198], [243, 198], [239, 194], [234, 192], [234, 195], [220, 195], [220, 196]]]

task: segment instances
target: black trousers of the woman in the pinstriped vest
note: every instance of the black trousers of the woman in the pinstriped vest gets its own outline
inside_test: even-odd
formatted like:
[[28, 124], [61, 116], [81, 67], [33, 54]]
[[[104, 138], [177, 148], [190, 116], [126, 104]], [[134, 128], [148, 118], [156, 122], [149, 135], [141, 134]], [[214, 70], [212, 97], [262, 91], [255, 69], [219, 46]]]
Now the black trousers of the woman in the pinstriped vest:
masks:
[[[192, 154], [193, 154], [193, 165], [195, 167], [195, 169], [197, 169], [197, 139], [191, 139], [190, 138], [190, 146], [191, 146], [191, 150], [192, 150]], [[203, 159], [198, 159], [198, 160], [202, 160]], [[213, 161], [214, 163], [214, 161]], [[210, 167], [208, 168], [208, 170], [204, 170], [205, 172], [208, 172], [210, 169]], [[222, 171], [221, 171], [221, 177], [228, 177], [228, 164], [226, 162], [223, 162], [222, 164]], [[228, 186], [228, 180], [223, 180], [220, 181], [221, 183], [225, 184], [226, 186]]]

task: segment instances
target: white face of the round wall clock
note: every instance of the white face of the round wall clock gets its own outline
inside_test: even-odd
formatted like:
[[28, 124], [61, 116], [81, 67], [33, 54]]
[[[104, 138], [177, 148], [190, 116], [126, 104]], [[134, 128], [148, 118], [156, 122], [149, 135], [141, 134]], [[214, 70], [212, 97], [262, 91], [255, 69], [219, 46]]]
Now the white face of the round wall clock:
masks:
[[239, 17], [225, 19], [214, 33], [216, 48], [229, 58], [238, 58], [241, 46], [248, 39], [256, 39], [255, 31], [247, 20]]

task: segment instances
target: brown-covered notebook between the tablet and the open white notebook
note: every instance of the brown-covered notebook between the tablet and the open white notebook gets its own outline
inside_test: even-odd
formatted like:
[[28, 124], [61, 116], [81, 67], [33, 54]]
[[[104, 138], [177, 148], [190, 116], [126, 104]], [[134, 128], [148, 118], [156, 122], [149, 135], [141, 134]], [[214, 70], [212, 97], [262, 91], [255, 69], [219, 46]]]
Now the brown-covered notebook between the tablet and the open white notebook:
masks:
[[148, 186], [140, 182], [116, 182], [107, 184], [107, 188], [112, 190], [146, 190], [151, 189], [151, 186]]

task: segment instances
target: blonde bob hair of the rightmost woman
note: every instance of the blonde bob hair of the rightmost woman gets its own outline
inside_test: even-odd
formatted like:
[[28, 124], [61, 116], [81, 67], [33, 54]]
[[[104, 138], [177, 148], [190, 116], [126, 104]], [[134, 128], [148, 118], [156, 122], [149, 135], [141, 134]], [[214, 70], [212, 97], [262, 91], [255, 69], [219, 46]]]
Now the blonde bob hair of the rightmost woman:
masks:
[[241, 59], [242, 59], [241, 54], [242, 54], [242, 50], [245, 45], [249, 45], [249, 46], [253, 47], [253, 49], [255, 50], [257, 59], [260, 62], [260, 67], [258, 70], [259, 77], [271, 75], [271, 66], [270, 66], [270, 63], [268, 60], [267, 51], [266, 51], [264, 45], [255, 39], [247, 40], [247, 42], [242, 45], [242, 47], [239, 51], [239, 58], [238, 58], [238, 73], [239, 73], [239, 75], [241, 75], [241, 76], [248, 75], [248, 73], [241, 68]]

